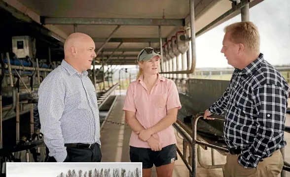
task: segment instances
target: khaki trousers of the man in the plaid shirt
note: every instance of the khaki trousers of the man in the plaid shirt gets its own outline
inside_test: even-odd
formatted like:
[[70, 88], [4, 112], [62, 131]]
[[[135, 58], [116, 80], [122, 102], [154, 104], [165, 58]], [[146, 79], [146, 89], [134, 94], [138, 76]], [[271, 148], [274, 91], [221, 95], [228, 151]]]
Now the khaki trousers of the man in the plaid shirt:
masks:
[[224, 165], [224, 177], [278, 177], [281, 173], [284, 162], [280, 150], [274, 151], [273, 155], [264, 158], [255, 169], [246, 169], [238, 162], [239, 155], [226, 155]]

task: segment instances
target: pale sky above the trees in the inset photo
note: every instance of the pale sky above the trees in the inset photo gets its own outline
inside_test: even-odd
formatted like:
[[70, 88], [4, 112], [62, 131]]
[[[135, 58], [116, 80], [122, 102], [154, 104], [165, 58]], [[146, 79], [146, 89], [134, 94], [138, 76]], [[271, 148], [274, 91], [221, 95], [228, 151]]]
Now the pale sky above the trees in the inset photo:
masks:
[[61, 172], [67, 173], [68, 170], [85, 171], [95, 168], [104, 170], [110, 168], [112, 174], [113, 168], [126, 169], [126, 174], [136, 168], [142, 169], [141, 163], [7, 163], [6, 177], [57, 177]]

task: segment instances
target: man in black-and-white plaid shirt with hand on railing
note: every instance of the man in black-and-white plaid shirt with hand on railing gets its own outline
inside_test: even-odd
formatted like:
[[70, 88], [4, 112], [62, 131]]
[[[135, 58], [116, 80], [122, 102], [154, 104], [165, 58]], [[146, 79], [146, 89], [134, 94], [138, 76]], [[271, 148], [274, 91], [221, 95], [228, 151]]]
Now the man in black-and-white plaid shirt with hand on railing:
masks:
[[225, 177], [277, 177], [283, 168], [289, 85], [263, 54], [252, 22], [227, 26], [221, 53], [235, 67], [229, 87], [205, 111], [225, 113], [224, 139], [229, 152]]

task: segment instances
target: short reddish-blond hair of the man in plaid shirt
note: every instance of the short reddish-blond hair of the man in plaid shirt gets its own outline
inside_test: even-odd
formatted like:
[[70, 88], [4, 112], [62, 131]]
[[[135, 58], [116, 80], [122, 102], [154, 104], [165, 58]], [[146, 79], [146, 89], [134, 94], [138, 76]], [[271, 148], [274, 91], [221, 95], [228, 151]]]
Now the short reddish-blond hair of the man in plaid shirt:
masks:
[[257, 27], [252, 22], [237, 22], [226, 26], [224, 32], [230, 33], [233, 43], [242, 43], [252, 53], [260, 53], [260, 35]]

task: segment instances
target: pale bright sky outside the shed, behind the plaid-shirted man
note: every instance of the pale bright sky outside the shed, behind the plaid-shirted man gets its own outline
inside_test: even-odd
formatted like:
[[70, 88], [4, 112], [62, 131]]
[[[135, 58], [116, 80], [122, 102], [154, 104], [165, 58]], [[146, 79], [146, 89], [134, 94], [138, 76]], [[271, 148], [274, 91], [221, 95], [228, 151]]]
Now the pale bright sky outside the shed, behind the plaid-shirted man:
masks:
[[[264, 0], [250, 8], [250, 21], [260, 33], [260, 52], [264, 59], [273, 65], [290, 64], [290, 1]], [[231, 67], [220, 53], [223, 40], [223, 28], [229, 24], [240, 22], [241, 15], [220, 24], [214, 29], [196, 38], [196, 68]], [[211, 52], [209, 52], [209, 50]], [[96, 65], [96, 68], [101, 67]], [[136, 68], [125, 65], [125, 68]], [[119, 68], [117, 66], [117, 68]], [[105, 70], [107, 67], [105, 67]], [[132, 70], [133, 71], [133, 70]]]

